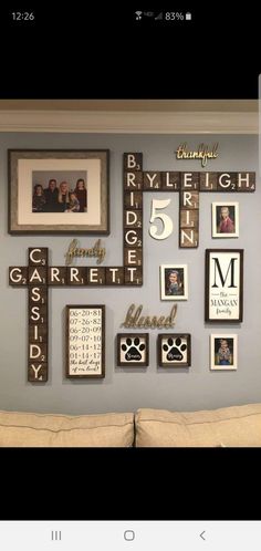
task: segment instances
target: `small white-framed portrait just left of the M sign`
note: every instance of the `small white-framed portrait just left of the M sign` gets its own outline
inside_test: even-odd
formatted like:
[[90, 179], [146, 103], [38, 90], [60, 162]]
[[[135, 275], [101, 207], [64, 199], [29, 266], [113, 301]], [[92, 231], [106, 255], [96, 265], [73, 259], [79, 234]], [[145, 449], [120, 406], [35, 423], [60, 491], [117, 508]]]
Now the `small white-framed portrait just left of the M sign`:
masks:
[[187, 264], [160, 266], [161, 300], [188, 300]]

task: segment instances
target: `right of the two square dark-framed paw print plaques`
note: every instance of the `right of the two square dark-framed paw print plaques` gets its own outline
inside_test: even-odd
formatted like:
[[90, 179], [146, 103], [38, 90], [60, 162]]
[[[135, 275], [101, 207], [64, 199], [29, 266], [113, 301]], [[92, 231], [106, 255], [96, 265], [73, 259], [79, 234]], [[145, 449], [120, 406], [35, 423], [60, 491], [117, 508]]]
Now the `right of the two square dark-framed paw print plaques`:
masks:
[[190, 334], [166, 333], [158, 335], [158, 365], [160, 367], [189, 367], [190, 362]]

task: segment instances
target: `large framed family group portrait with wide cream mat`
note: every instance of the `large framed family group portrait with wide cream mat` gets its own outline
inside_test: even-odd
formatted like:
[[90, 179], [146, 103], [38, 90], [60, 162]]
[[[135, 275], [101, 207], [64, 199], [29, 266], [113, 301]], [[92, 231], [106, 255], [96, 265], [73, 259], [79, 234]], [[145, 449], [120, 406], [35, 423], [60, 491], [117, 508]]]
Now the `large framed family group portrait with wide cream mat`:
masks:
[[108, 153], [9, 149], [9, 233], [108, 233]]

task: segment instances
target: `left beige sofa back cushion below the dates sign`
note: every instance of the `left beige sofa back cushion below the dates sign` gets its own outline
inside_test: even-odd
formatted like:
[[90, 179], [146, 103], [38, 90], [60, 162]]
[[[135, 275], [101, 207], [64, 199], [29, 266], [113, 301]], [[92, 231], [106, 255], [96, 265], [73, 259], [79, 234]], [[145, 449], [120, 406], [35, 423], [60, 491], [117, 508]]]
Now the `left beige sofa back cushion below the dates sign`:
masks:
[[1, 447], [128, 447], [134, 414], [50, 415], [0, 412]]

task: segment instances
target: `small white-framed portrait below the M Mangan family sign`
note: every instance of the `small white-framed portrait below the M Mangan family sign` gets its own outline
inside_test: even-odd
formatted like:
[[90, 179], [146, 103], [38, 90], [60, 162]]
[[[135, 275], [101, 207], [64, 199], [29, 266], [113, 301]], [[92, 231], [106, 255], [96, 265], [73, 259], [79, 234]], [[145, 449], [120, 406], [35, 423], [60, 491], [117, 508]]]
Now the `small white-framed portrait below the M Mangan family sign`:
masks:
[[210, 335], [210, 370], [230, 371], [238, 368], [238, 335]]

